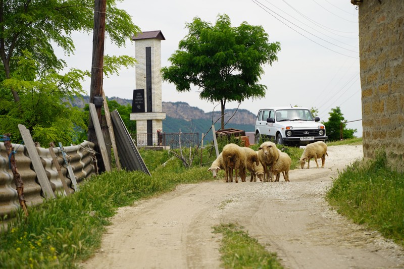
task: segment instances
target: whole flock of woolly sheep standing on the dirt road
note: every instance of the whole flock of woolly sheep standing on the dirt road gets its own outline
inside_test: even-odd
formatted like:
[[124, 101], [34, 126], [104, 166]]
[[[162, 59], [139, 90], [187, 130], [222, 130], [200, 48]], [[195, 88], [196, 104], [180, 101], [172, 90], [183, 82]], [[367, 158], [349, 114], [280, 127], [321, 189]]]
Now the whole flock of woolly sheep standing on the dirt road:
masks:
[[[324, 168], [326, 155], [328, 156], [327, 145], [323, 141], [308, 144], [299, 158], [300, 167], [304, 168], [307, 162], [307, 168], [310, 168], [310, 159], [314, 158], [318, 168], [317, 159], [321, 158], [321, 167]], [[279, 181], [281, 173], [283, 179], [289, 181], [291, 164], [292, 159], [289, 155], [279, 150], [273, 142], [262, 143], [257, 151], [230, 143], [223, 147], [208, 171], [211, 171], [216, 178], [218, 171], [224, 170], [226, 182], [233, 182], [233, 170], [236, 183], [238, 183], [237, 173], [241, 182], [245, 182], [247, 170], [251, 175], [250, 182], [257, 182], [257, 178], [261, 182]]]

